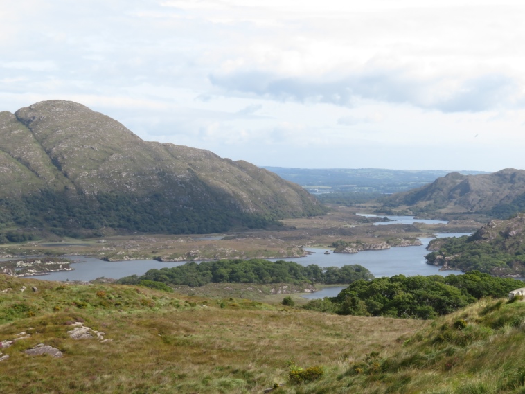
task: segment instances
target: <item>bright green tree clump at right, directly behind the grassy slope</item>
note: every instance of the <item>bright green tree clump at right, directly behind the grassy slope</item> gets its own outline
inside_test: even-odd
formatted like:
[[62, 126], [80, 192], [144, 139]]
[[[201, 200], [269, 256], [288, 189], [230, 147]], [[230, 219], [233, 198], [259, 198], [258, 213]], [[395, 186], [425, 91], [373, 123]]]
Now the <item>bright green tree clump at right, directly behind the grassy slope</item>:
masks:
[[495, 278], [479, 271], [449, 276], [404, 276], [357, 280], [334, 298], [312, 300], [309, 310], [358, 316], [433, 319], [483, 298], [506, 297], [521, 280]]

